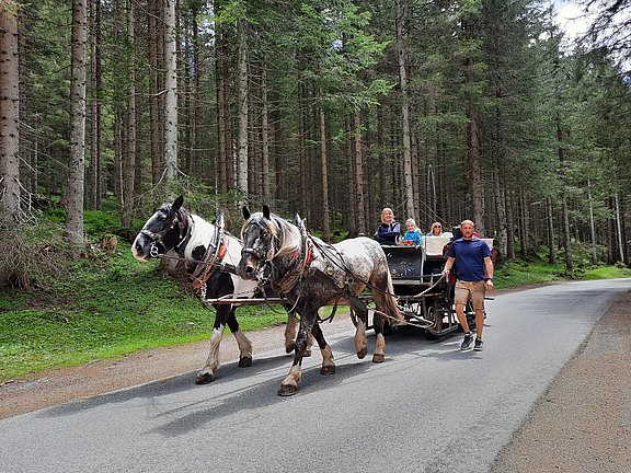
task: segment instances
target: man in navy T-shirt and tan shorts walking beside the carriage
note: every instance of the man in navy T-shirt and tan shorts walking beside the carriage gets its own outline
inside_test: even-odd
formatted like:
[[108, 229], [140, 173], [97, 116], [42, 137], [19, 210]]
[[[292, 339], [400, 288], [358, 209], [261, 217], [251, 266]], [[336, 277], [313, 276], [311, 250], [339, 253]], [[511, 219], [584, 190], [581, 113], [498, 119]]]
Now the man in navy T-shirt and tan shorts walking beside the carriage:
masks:
[[471, 220], [463, 220], [460, 223], [462, 238], [456, 240], [447, 253], [447, 263], [443, 274], [449, 275], [454, 263], [456, 266], [456, 315], [458, 322], [464, 330], [464, 341], [460, 349], [466, 350], [471, 347], [473, 335], [469, 330], [467, 318], [464, 316], [464, 305], [471, 297], [473, 310], [475, 311], [475, 345], [473, 349], [481, 351], [484, 347], [482, 342], [482, 328], [484, 327], [484, 296], [486, 290], [493, 290], [493, 261], [491, 259], [491, 249], [478, 236], [473, 236], [475, 226]]

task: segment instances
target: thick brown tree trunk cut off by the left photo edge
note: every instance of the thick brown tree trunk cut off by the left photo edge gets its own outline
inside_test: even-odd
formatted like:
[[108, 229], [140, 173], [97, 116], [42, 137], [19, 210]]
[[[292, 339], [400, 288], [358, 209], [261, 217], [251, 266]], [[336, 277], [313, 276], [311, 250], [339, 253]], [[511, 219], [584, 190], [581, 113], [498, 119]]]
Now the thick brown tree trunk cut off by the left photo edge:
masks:
[[20, 218], [20, 64], [18, 4], [0, 10], [0, 228]]

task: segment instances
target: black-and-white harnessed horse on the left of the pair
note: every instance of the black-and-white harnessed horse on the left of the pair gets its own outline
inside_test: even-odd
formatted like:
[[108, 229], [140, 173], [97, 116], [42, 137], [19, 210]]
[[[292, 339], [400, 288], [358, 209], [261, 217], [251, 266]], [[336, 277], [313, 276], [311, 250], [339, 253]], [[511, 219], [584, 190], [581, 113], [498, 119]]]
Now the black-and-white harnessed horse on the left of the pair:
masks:
[[[134, 243], [131, 254], [136, 259], [149, 261], [174, 252], [186, 262], [186, 270], [192, 276], [194, 287], [200, 289], [203, 298], [236, 297], [251, 298], [256, 284], [244, 280], [225, 268], [236, 268], [241, 258], [241, 242], [223, 232], [222, 215], [218, 224], [209, 223], [202, 217], [190, 214], [177, 197], [173, 204], [162, 205], [147, 220]], [[226, 324], [234, 335], [239, 346], [239, 367], [252, 366], [252, 344], [241, 332], [234, 314], [234, 304], [215, 304], [216, 315], [210, 335], [210, 353], [206, 365], [197, 372], [196, 384], [207, 384], [215, 379], [219, 368], [219, 345]], [[285, 328], [285, 349], [291, 353], [295, 346], [296, 319], [289, 314]]]

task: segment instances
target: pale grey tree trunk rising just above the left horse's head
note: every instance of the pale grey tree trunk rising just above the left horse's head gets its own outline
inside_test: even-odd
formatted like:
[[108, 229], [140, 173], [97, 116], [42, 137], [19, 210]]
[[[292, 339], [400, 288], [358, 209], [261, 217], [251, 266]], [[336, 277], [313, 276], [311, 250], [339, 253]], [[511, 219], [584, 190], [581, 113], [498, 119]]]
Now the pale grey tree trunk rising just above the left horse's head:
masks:
[[171, 181], [177, 170], [177, 54], [175, 0], [164, 0], [164, 177]]

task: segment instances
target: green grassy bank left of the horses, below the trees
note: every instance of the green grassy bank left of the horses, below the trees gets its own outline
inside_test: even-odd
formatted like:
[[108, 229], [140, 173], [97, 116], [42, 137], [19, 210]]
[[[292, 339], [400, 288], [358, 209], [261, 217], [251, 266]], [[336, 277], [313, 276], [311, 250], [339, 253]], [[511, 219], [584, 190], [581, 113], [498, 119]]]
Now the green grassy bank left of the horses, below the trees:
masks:
[[[127, 247], [73, 263], [46, 292], [0, 291], [0, 382], [49, 368], [205, 339], [214, 310], [183, 291], [157, 262]], [[238, 310], [242, 330], [286, 320], [269, 307]]]

